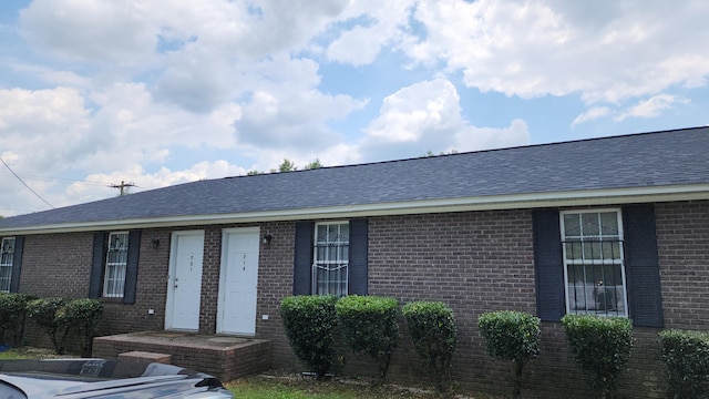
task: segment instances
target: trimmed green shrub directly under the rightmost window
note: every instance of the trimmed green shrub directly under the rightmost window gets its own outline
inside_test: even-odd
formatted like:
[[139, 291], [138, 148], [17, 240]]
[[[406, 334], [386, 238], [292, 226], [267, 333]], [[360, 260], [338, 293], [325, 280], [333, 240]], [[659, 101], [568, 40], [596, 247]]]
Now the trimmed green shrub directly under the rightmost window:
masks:
[[566, 315], [562, 318], [569, 349], [582, 369], [594, 374], [594, 388], [613, 397], [616, 380], [633, 349], [633, 321], [623, 317]]

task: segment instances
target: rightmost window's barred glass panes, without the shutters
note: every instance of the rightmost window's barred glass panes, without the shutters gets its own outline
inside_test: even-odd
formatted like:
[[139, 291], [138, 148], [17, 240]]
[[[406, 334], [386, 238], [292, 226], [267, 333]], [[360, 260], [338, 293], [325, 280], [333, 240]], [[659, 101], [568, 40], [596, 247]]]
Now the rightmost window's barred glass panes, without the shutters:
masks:
[[628, 315], [619, 209], [562, 212], [566, 311]]

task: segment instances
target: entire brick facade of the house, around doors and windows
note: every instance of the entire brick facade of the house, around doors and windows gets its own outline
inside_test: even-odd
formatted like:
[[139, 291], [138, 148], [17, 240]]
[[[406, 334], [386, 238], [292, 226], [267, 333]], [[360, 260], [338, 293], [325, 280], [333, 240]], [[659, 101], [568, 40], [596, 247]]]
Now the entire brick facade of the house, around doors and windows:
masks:
[[[657, 243], [666, 328], [709, 329], [709, 201], [655, 205]], [[199, 331], [216, 331], [222, 229], [205, 231]], [[238, 225], [239, 227], [255, 226]], [[258, 224], [260, 245], [256, 337], [271, 341], [274, 367], [299, 369], [284, 335], [278, 304], [292, 294], [295, 222]], [[106, 300], [100, 334], [161, 330], [174, 229], [144, 229], [141, 239], [136, 301]], [[368, 291], [410, 300], [442, 300], [455, 311], [459, 345], [454, 379], [481, 391], [500, 392], [510, 369], [486, 356], [476, 319], [499, 309], [536, 313], [531, 209], [462, 212], [369, 218]], [[151, 242], [160, 239], [153, 248]], [[92, 234], [28, 235], [20, 290], [41, 296], [82, 297], [89, 291]], [[147, 309], [154, 309], [148, 315]], [[265, 319], [264, 316], [268, 316]], [[405, 331], [390, 369], [391, 378], [421, 381], [427, 374]], [[636, 329], [630, 369], [621, 393], [664, 397], [665, 374], [659, 358], [658, 329]], [[32, 335], [30, 335], [32, 337]], [[368, 360], [348, 355], [338, 367], [345, 374], [376, 374]], [[500, 388], [503, 387], [503, 388]], [[584, 397], [586, 381], [568, 356], [558, 323], [543, 325], [543, 348], [525, 368], [523, 392], [541, 397]]]

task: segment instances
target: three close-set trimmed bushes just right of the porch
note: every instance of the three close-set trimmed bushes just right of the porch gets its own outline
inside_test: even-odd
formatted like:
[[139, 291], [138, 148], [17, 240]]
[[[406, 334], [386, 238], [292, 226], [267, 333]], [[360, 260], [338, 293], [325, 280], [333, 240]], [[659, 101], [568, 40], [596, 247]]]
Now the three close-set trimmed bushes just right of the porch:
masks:
[[[436, 386], [445, 390], [456, 344], [453, 311], [442, 303], [414, 301], [402, 308], [409, 334]], [[353, 352], [369, 355], [383, 379], [399, 340], [399, 303], [393, 298], [351, 295], [292, 296], [280, 303], [286, 335], [296, 356], [318, 378], [335, 358], [336, 327]]]

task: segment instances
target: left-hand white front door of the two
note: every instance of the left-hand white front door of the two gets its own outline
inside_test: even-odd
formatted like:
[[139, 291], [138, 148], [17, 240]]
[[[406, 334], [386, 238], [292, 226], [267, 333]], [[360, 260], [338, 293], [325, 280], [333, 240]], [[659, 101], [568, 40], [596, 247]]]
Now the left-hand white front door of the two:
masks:
[[199, 329], [204, 231], [173, 233], [165, 329]]

